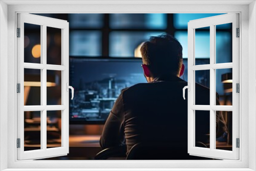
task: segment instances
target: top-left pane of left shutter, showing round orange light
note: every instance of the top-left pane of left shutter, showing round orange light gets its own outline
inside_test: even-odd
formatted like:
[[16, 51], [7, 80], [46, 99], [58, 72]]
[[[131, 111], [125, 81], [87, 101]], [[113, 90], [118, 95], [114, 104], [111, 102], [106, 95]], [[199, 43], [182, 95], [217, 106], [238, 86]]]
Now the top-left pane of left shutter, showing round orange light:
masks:
[[41, 63], [41, 26], [24, 23], [24, 62]]

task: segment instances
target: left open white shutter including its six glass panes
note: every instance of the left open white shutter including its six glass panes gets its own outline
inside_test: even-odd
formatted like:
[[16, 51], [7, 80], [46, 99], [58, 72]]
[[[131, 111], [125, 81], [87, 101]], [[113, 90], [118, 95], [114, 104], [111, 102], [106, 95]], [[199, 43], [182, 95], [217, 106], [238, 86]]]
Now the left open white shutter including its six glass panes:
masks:
[[[25, 36], [25, 25], [30, 30]], [[33, 28], [39, 28], [38, 34]], [[51, 39], [51, 29], [58, 35]], [[38, 42], [35, 43], [35, 35]], [[34, 37], [33, 37], [34, 36]], [[49, 41], [58, 42], [59, 62], [50, 62]], [[30, 46], [33, 46], [30, 47]], [[30, 50], [31, 61], [25, 56]], [[26, 53], [28, 54], [28, 53]], [[48, 60], [49, 59], [49, 60]], [[31, 71], [31, 72], [27, 72]], [[51, 79], [53, 77], [53, 79]], [[51, 105], [48, 88], [57, 87], [58, 103]], [[69, 153], [69, 23], [66, 20], [33, 14], [17, 14], [17, 159], [34, 160]], [[35, 91], [31, 91], [37, 87]], [[30, 94], [28, 96], [28, 94]], [[37, 104], [29, 104], [30, 96], [38, 96]], [[49, 96], [50, 97], [50, 96]], [[54, 117], [53, 115], [58, 115]], [[29, 116], [28, 116], [29, 115]], [[33, 115], [33, 117], [31, 117]], [[61, 123], [61, 124], [60, 124]], [[53, 134], [51, 134], [53, 133]], [[28, 137], [29, 135], [29, 137]], [[53, 135], [59, 141], [54, 142]], [[55, 137], [56, 138], [56, 137]], [[51, 142], [51, 141], [53, 142]], [[28, 147], [29, 146], [29, 147]]]

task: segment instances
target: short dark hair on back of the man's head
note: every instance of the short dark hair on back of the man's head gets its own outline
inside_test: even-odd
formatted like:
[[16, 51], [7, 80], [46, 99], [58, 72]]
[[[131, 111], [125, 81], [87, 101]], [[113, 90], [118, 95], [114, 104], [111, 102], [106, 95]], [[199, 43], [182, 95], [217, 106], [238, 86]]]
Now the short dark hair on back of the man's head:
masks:
[[182, 66], [182, 46], [171, 35], [152, 36], [141, 46], [142, 61], [154, 77], [177, 75]]

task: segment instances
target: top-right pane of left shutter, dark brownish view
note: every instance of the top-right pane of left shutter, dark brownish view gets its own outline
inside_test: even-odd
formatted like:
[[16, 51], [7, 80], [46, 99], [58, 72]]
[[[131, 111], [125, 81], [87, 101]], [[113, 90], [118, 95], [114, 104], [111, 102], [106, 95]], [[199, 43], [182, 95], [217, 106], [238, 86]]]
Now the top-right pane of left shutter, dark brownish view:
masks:
[[47, 64], [61, 65], [61, 29], [47, 27]]

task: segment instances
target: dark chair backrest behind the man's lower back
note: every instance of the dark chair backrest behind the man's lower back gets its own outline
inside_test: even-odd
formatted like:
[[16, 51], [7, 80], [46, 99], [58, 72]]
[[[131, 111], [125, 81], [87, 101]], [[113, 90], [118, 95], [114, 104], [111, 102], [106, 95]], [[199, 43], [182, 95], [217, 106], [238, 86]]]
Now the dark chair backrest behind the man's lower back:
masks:
[[[207, 147], [202, 142], [197, 142], [198, 147]], [[187, 147], [170, 144], [135, 144], [126, 160], [205, 160], [207, 158], [190, 156]]]

